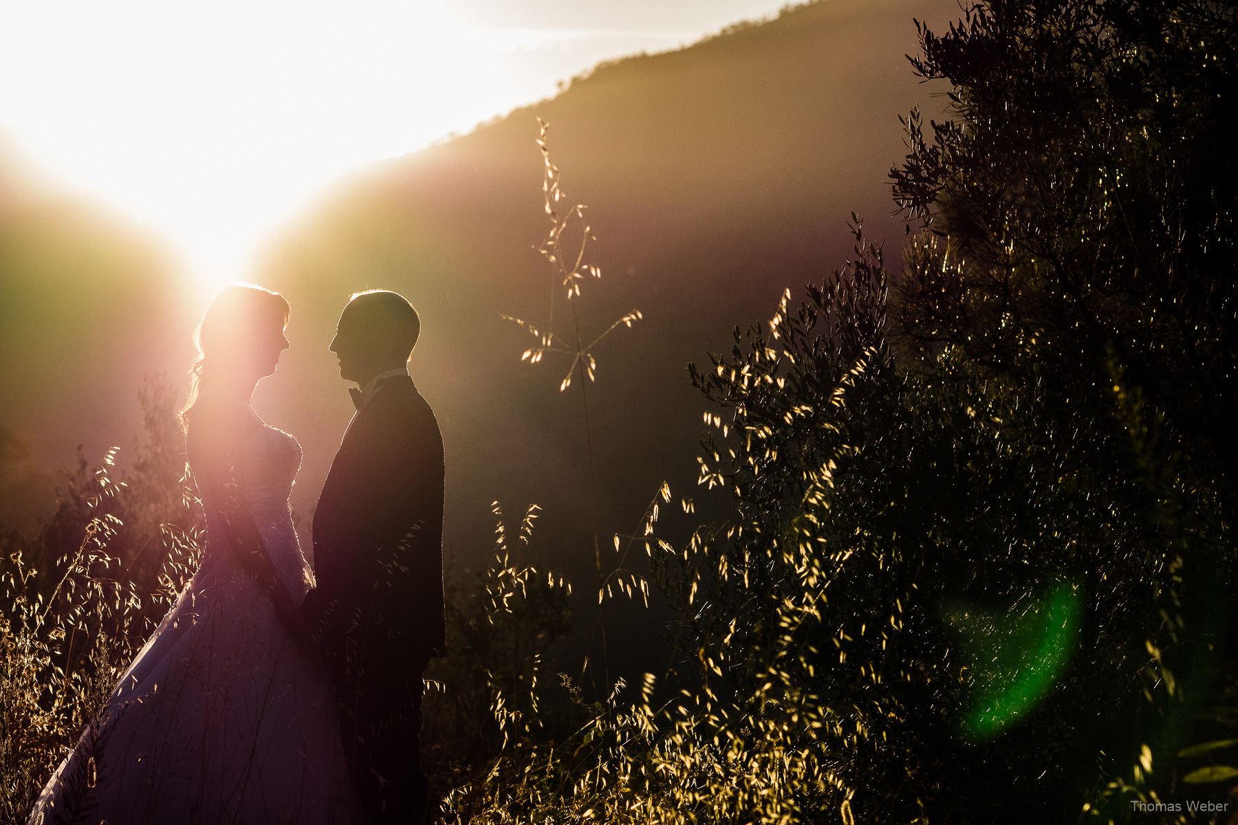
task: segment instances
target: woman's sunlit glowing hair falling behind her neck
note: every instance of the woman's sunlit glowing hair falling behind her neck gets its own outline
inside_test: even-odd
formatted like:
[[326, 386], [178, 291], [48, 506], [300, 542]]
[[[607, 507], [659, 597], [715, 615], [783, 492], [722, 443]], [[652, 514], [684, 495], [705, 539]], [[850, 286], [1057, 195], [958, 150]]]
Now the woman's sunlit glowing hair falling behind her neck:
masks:
[[178, 416], [181, 427], [188, 427], [189, 413], [198, 401], [207, 371], [218, 369], [212, 365], [235, 355], [238, 345], [244, 346], [248, 341], [248, 330], [258, 324], [271, 323], [276, 317], [282, 317], [286, 325], [291, 312], [284, 296], [256, 283], [229, 283], [215, 294], [198, 328], [193, 330], [198, 356], [189, 366], [189, 397]]

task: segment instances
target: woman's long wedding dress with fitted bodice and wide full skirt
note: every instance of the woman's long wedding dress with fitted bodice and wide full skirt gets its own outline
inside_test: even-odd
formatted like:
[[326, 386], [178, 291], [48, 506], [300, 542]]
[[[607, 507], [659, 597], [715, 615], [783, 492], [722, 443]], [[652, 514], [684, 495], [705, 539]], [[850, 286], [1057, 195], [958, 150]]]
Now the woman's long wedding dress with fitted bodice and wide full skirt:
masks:
[[[296, 439], [258, 421], [235, 472], [293, 604], [313, 586], [288, 511]], [[203, 491], [202, 565], [40, 795], [53, 823], [363, 821], [333, 689], [224, 536]]]

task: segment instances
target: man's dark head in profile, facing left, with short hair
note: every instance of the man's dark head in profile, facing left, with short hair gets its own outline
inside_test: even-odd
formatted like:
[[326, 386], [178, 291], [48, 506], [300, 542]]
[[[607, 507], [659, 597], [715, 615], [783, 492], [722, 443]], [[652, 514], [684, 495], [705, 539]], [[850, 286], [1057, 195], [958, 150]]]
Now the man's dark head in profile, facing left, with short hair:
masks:
[[421, 319], [399, 292], [369, 289], [353, 294], [335, 327], [331, 351], [339, 375], [364, 383], [368, 376], [404, 366], [421, 334]]

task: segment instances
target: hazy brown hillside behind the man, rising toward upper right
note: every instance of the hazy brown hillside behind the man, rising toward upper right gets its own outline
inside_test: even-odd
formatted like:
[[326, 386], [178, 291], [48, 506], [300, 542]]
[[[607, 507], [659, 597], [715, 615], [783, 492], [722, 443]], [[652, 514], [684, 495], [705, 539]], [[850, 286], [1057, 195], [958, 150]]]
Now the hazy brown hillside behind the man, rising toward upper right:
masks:
[[[537, 542], [578, 588], [592, 581], [581, 398], [567, 361], [519, 362], [529, 340], [500, 314], [543, 324], [550, 281], [536, 118], [551, 124], [563, 188], [588, 204], [603, 278], [586, 283], [588, 330], [639, 308], [599, 346], [591, 385], [607, 536], [635, 524], [657, 485], [695, 495], [703, 398], [688, 361], [729, 349], [787, 286], [849, 254], [863, 215], [898, 257], [885, 184], [905, 153], [899, 115], [940, 116], [905, 58], [912, 17], [937, 28], [953, 0], [826, 0], [690, 48], [598, 68], [552, 100], [392, 162], [297, 228], [265, 281], [292, 298], [298, 344], [262, 397], [308, 437], [300, 501], [317, 495], [350, 414], [327, 343], [347, 294], [384, 287], [422, 313], [413, 359], [448, 460], [447, 543], [489, 547], [489, 503], [543, 507]], [[433, 78], [427, 78], [427, 83]], [[941, 89], [938, 89], [940, 92]], [[392, 101], [391, 105], [399, 105]], [[560, 303], [560, 318], [565, 318]], [[301, 345], [301, 344], [305, 345]], [[306, 442], [306, 438], [303, 438]], [[587, 599], [584, 601], [588, 601]]]

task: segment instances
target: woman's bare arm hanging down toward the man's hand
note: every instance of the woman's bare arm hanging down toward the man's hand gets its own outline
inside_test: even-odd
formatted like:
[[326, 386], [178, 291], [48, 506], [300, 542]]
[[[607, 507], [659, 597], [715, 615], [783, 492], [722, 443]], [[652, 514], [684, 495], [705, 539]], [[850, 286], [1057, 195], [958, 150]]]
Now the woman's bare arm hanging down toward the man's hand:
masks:
[[292, 637], [307, 642], [306, 622], [271, 563], [266, 543], [245, 505], [241, 474], [236, 471], [240, 445], [256, 427], [256, 422], [232, 411], [202, 409], [189, 422], [186, 437], [189, 468], [199, 492], [209, 496], [219, 513], [233, 557], [258, 580]]

